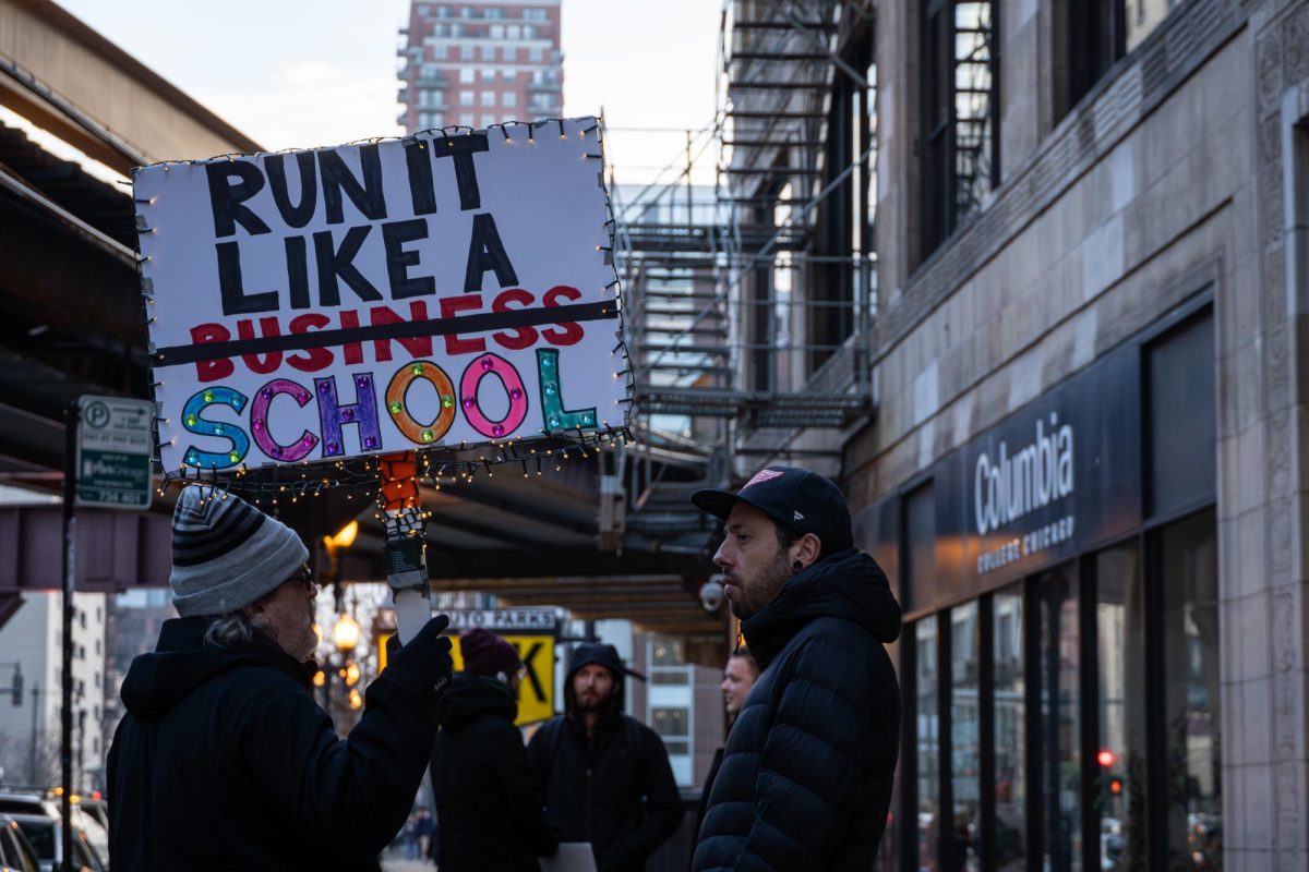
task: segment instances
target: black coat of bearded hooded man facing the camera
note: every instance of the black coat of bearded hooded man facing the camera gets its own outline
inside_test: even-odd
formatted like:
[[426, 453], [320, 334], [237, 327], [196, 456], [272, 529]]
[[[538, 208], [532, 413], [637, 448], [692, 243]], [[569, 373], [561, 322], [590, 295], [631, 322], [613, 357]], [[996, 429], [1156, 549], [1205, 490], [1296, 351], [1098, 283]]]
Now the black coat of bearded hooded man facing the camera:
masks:
[[598, 872], [641, 872], [682, 821], [664, 741], [624, 714], [602, 716], [590, 741], [571, 718], [555, 718], [533, 735], [528, 756], [546, 817], [562, 841], [592, 843]]

